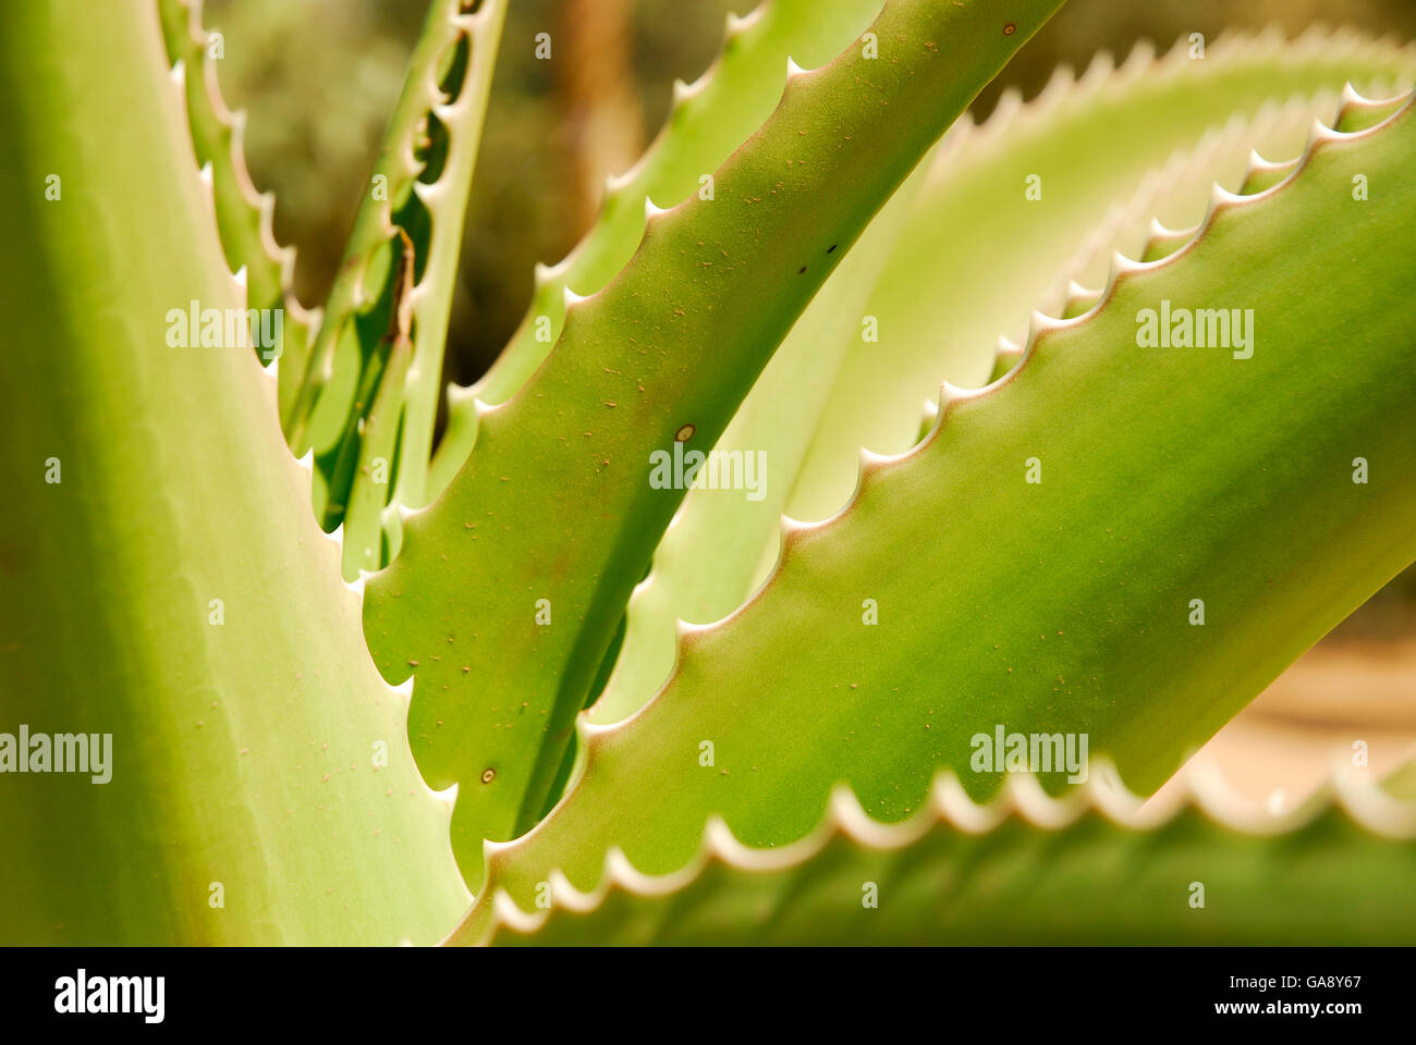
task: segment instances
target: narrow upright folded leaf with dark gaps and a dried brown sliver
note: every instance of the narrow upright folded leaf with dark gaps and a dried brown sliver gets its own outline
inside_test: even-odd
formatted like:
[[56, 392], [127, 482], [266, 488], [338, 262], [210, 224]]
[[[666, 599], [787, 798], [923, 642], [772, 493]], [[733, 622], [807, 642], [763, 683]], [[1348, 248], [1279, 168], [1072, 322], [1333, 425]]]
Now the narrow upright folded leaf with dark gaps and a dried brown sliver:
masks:
[[[389, 119], [324, 321], [310, 350], [286, 430], [297, 452], [314, 449], [324, 479], [324, 527], [343, 524], [344, 576], [378, 569], [385, 508], [426, 503], [442, 355], [456, 285], [463, 212], [481, 139], [507, 0], [474, 11], [435, 0], [413, 51], [404, 92]], [[384, 336], [401, 300], [398, 235], [413, 248], [413, 355], [382, 399], [399, 433], [382, 464], [364, 439], [374, 402], [389, 379]], [[385, 422], [384, 428], [388, 429]], [[388, 473], [378, 481], [375, 473]], [[357, 510], [355, 510], [355, 506]], [[351, 514], [353, 513], [353, 514]], [[398, 528], [392, 530], [396, 541]], [[396, 551], [392, 548], [391, 551]]]

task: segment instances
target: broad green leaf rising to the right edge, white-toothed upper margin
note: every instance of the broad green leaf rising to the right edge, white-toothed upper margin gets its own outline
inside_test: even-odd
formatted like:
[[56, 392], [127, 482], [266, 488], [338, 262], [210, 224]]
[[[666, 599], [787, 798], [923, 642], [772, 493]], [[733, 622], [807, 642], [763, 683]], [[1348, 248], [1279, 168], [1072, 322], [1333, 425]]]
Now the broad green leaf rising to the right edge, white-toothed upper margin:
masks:
[[[612, 847], [666, 874], [711, 816], [786, 844], [841, 782], [886, 821], [940, 769], [986, 799], [997, 731], [1086, 736], [1154, 790], [1416, 559], [1416, 258], [1386, 249], [1416, 219], [1413, 147], [1410, 105], [1320, 130], [1286, 183], [1216, 191], [1188, 246], [1042, 320], [1007, 379], [946, 387], [930, 438], [789, 527], [770, 582], [688, 632], [650, 704], [582, 725], [583, 773], [493, 884], [531, 909], [552, 869], [593, 886]], [[1252, 353], [1143, 347], [1163, 302], [1252, 310]]]

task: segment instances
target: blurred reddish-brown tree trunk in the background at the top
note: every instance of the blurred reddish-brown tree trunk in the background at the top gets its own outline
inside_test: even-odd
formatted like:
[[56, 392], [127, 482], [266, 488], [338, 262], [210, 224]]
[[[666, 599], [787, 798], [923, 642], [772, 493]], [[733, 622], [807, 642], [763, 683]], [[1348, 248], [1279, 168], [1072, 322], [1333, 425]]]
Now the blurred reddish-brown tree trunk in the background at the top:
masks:
[[643, 113], [630, 75], [633, 0], [559, 0], [556, 96], [571, 157], [568, 184], [576, 232], [595, 221], [605, 178], [644, 149]]

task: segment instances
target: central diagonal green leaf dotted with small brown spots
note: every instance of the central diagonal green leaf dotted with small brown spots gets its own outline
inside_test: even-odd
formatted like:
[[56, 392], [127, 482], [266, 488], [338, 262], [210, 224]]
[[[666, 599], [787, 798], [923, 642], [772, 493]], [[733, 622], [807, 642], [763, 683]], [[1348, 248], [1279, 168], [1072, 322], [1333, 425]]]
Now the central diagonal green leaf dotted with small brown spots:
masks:
[[[1001, 18], [892, 3], [872, 27], [878, 58], [852, 45], [789, 78], [716, 171], [715, 198], [649, 219], [620, 276], [569, 310], [535, 377], [483, 416], [446, 494], [408, 520], [402, 554], [370, 581], [365, 634], [385, 677], [416, 670], [425, 777], [467, 782], [453, 847], [469, 881], [483, 838], [538, 817], [683, 497], [653, 486], [651, 455], [716, 442], [875, 210], [1058, 6]], [[566, 504], [593, 510], [572, 524]]]

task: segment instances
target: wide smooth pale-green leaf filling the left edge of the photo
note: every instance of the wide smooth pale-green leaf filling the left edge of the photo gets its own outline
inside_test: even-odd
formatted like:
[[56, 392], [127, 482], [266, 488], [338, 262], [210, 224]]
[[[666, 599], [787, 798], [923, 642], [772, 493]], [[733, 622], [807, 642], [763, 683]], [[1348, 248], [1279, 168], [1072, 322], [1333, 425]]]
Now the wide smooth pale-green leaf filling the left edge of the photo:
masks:
[[173, 343], [191, 302], [246, 304], [183, 95], [153, 4], [0, 7], [0, 732], [110, 736], [106, 783], [4, 773], [0, 936], [430, 942], [467, 896], [450, 796], [361, 643], [275, 382], [245, 344]]

